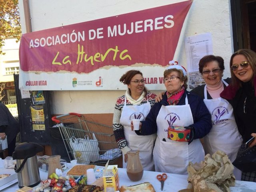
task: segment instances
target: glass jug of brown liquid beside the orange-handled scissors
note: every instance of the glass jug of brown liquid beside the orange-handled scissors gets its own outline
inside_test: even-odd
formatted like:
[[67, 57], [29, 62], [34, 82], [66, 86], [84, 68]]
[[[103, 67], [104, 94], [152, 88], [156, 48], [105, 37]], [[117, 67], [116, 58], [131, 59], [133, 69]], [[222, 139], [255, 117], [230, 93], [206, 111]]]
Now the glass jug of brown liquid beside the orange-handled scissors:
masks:
[[131, 181], [139, 181], [143, 176], [143, 167], [140, 162], [140, 151], [130, 150], [127, 152], [128, 163], [127, 163], [127, 176]]

